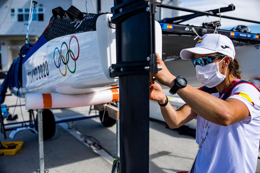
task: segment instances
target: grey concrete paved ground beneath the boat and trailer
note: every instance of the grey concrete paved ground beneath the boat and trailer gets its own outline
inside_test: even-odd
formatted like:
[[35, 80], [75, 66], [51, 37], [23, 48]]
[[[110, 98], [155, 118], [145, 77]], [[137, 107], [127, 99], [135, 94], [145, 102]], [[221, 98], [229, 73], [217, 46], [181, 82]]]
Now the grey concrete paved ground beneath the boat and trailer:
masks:
[[[7, 104], [15, 104], [11, 99]], [[23, 102], [23, 101], [22, 101]], [[13, 109], [10, 108], [10, 112]], [[23, 107], [24, 110], [24, 107]], [[57, 117], [73, 115], [87, 115], [89, 107], [55, 109]], [[20, 109], [16, 112], [21, 120]], [[28, 114], [23, 111], [25, 119]], [[105, 128], [99, 118], [78, 121], [74, 128], [82, 134], [91, 135], [100, 141], [110, 153], [115, 153], [116, 126]], [[59, 133], [60, 132], [60, 133]], [[54, 140], [44, 142], [45, 168], [50, 173], [55, 172], [110, 172], [112, 165], [91, 149], [80, 143], [69, 133], [56, 131]], [[0, 134], [0, 141], [24, 141], [22, 149], [15, 156], [0, 156], [0, 173], [33, 173], [38, 169], [38, 138], [29, 131], [20, 132], [13, 140], [4, 140]], [[177, 131], [165, 128], [162, 122], [150, 121], [150, 172], [166, 173], [188, 170], [197, 151], [195, 139], [179, 135]], [[258, 159], [259, 161], [259, 159]], [[260, 166], [257, 169], [260, 173]], [[136, 170], [138, 172], [138, 170]]]

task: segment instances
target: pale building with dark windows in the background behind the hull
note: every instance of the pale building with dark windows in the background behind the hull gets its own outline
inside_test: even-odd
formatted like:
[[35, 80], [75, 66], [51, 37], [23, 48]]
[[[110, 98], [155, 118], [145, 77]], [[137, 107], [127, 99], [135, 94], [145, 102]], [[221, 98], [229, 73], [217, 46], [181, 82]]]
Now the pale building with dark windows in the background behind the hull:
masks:
[[[88, 0], [88, 12], [97, 13], [99, 0]], [[34, 43], [42, 34], [52, 16], [52, 9], [61, 6], [67, 10], [74, 5], [86, 12], [85, 0], [37, 0], [36, 13], [29, 27], [29, 42]], [[178, 5], [178, 0], [165, 0], [165, 4]], [[0, 70], [7, 71], [14, 58], [18, 57], [20, 48], [25, 43], [31, 0], [0, 1]], [[114, 0], [100, 0], [101, 12], [110, 12]], [[156, 14], [156, 18], [176, 16], [175, 10], [164, 9]]]

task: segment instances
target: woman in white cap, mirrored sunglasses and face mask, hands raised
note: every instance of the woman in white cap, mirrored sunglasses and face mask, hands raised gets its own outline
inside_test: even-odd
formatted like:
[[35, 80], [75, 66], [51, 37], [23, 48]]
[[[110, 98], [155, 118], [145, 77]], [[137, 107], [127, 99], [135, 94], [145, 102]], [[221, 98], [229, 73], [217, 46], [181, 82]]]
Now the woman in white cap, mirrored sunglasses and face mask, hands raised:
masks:
[[199, 150], [190, 172], [255, 172], [260, 139], [260, 91], [241, 80], [232, 41], [224, 35], [206, 34], [194, 48], [183, 49], [180, 57], [191, 59], [197, 79], [204, 86], [193, 88], [184, 77], [172, 75], [157, 54], [158, 65], [163, 69], [153, 76], [186, 104], [174, 110], [152, 76], [150, 99], [158, 101], [170, 128], [197, 119]]

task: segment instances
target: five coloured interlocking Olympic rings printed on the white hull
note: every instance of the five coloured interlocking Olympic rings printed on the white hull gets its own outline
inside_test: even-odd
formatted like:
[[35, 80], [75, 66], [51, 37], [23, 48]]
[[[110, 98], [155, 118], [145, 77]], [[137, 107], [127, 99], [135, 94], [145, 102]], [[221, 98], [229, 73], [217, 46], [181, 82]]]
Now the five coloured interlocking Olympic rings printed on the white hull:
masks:
[[[77, 41], [77, 44], [78, 44], [78, 55], [77, 55], [76, 58], [75, 58], [75, 56], [74, 56], [73, 51], [70, 50], [70, 42], [71, 42], [72, 38], [75, 38], [76, 41]], [[80, 45], [79, 45], [79, 41], [78, 41], [77, 37], [74, 36], [74, 35], [73, 35], [72, 37], [70, 37], [70, 40], [69, 40], [69, 48], [68, 48], [68, 45], [67, 45], [66, 42], [63, 42], [63, 43], [61, 44], [61, 48], [62, 48], [63, 45], [66, 45], [66, 47], [67, 47], [66, 60], [65, 60], [64, 56], [62, 55], [61, 51], [59, 50], [59, 48], [57, 48], [57, 47], [54, 49], [53, 58], [54, 58], [54, 64], [55, 64], [55, 66], [60, 70], [61, 75], [62, 75], [62, 76], [66, 76], [66, 74], [67, 74], [67, 68], [68, 68], [69, 72], [71, 72], [71, 73], [75, 73], [75, 71], [76, 71], [76, 61], [77, 61], [77, 59], [79, 58]], [[56, 50], [58, 50], [58, 52], [59, 52], [58, 65], [57, 65], [56, 62], [55, 62], [55, 51], [56, 51]], [[73, 71], [71, 71], [71, 70], [69, 69], [69, 66], [68, 66], [69, 55], [70, 55], [71, 59], [74, 61], [74, 63], [75, 63], [75, 67], [74, 67], [74, 70], [73, 70]], [[72, 56], [73, 56], [73, 57], [72, 57]], [[61, 66], [61, 61], [60, 61], [60, 59], [61, 59], [62, 63], [65, 65], [65, 73], [64, 73], [64, 74], [61, 72], [61, 69], [60, 69], [60, 66]]]

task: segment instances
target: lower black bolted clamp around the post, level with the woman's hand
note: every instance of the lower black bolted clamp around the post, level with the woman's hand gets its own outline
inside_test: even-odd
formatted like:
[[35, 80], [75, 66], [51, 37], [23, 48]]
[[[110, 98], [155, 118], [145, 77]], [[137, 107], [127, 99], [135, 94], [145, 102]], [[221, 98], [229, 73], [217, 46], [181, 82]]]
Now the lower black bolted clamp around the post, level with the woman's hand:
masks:
[[109, 71], [110, 77], [134, 74], [156, 74], [158, 72], [156, 55], [152, 54], [148, 56], [146, 61], [112, 64]]

